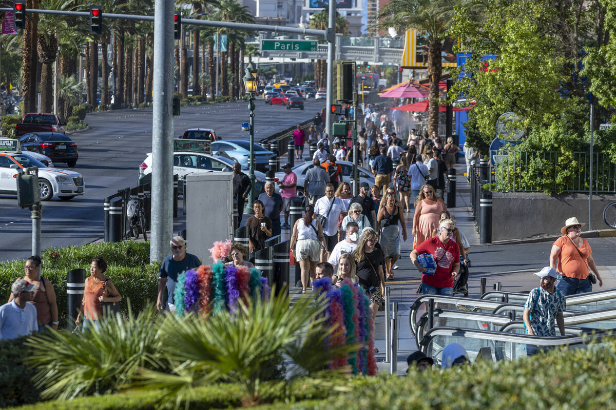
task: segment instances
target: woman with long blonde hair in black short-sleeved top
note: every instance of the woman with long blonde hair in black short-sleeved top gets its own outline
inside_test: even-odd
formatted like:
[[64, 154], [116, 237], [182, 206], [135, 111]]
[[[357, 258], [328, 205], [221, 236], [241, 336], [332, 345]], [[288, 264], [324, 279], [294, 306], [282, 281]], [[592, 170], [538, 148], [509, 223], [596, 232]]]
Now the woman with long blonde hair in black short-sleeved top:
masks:
[[357, 264], [357, 283], [370, 298], [372, 315], [376, 318], [376, 312], [383, 302], [385, 293], [385, 277], [383, 275], [383, 252], [376, 248], [378, 235], [372, 228], [366, 228], [359, 237], [357, 248], [353, 251], [353, 259]]

